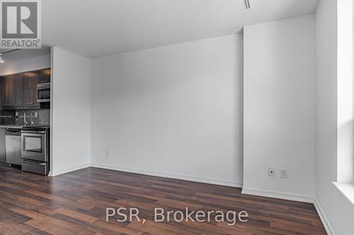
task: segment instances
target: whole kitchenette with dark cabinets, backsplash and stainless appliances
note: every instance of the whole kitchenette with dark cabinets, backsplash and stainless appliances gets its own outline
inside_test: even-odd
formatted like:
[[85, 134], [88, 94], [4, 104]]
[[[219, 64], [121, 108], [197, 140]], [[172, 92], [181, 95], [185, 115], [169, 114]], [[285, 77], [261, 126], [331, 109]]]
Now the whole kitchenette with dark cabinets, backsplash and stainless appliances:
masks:
[[50, 68], [0, 76], [1, 165], [49, 173], [50, 79]]

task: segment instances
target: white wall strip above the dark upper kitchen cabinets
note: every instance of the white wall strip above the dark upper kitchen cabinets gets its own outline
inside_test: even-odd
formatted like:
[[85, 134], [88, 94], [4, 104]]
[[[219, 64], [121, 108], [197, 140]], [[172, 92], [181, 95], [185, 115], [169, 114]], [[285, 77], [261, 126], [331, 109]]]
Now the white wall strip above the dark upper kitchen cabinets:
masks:
[[50, 54], [23, 59], [16, 62], [0, 64], [0, 76], [12, 73], [23, 73], [42, 68], [50, 68]]

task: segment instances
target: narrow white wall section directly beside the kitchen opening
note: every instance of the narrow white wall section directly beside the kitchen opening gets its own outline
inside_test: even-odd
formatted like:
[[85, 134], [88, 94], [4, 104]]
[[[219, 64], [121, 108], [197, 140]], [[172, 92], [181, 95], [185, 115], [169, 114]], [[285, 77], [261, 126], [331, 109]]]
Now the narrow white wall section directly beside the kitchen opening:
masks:
[[89, 167], [91, 60], [52, 47], [52, 172]]

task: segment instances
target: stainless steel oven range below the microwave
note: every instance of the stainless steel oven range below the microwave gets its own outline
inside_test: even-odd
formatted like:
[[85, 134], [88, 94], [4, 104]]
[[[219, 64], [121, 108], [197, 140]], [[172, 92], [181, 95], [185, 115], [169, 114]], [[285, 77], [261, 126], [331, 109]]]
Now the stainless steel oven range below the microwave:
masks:
[[47, 175], [49, 172], [49, 129], [21, 131], [21, 166], [23, 171]]

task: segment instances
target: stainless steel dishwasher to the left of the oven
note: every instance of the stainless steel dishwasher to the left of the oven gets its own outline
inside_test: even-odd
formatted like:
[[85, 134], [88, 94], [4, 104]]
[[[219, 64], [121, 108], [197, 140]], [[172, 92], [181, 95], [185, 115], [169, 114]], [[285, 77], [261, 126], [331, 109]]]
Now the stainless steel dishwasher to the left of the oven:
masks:
[[6, 162], [21, 165], [21, 129], [6, 128]]

